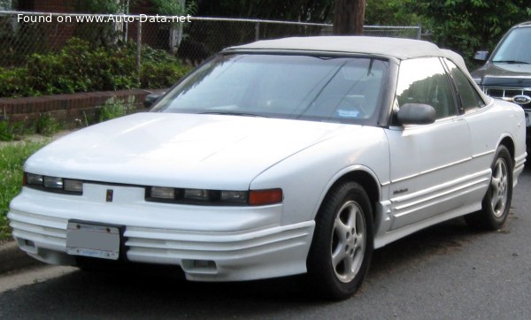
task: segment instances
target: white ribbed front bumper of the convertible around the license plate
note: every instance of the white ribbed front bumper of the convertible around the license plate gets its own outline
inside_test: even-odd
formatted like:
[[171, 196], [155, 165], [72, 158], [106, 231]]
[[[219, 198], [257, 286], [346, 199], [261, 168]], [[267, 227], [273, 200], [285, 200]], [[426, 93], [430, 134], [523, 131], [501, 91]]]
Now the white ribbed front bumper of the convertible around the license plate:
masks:
[[306, 271], [314, 221], [281, 225], [282, 206], [210, 207], [143, 201], [143, 189], [88, 185], [82, 196], [25, 187], [8, 214], [19, 247], [45, 263], [75, 264], [66, 253], [69, 220], [122, 225], [123, 256], [178, 265], [197, 281], [236, 281]]

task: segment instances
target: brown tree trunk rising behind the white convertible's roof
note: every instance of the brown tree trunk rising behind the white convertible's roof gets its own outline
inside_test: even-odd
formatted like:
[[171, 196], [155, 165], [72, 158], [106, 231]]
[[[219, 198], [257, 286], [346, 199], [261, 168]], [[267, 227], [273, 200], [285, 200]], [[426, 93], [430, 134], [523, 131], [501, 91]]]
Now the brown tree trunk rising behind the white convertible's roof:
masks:
[[335, 0], [334, 34], [363, 34], [366, 0]]

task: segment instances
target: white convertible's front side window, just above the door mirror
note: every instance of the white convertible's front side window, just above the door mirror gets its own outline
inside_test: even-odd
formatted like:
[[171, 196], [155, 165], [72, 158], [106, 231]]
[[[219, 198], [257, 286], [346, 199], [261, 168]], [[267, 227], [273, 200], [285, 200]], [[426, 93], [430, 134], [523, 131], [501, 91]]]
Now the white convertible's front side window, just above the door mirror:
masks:
[[457, 114], [448, 75], [437, 57], [404, 60], [400, 64], [396, 98], [405, 103], [424, 103], [435, 108], [436, 118]]

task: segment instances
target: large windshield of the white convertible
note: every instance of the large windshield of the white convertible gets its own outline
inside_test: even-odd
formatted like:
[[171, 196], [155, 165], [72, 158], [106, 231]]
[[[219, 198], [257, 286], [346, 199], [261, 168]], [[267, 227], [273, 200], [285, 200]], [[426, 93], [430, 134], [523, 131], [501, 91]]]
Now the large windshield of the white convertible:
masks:
[[389, 62], [371, 57], [219, 55], [152, 111], [366, 123]]

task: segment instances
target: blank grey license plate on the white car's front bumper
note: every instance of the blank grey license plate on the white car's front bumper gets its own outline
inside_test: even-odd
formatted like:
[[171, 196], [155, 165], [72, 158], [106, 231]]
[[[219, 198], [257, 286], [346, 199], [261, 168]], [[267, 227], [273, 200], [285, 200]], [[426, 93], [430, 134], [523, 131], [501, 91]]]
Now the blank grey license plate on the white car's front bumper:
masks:
[[66, 230], [66, 253], [118, 260], [119, 228], [69, 221]]

